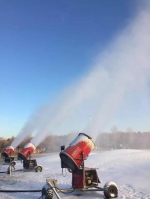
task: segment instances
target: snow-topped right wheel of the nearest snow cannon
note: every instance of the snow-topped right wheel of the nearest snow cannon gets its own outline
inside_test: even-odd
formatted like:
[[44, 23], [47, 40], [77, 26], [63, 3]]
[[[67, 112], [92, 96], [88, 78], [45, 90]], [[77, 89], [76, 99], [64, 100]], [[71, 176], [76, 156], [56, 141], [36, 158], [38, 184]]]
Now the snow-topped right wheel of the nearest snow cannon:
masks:
[[107, 182], [104, 185], [104, 195], [106, 198], [116, 198], [118, 196], [118, 188], [114, 182]]

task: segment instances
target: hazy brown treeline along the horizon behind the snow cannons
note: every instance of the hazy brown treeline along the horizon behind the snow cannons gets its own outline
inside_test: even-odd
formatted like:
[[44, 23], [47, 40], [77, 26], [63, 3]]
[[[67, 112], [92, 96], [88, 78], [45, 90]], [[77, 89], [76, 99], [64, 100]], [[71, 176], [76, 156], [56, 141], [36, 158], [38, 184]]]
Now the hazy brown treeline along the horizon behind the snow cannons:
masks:
[[[37, 147], [37, 152], [49, 153], [60, 151], [60, 146], [66, 147], [73, 141], [79, 133], [70, 133], [67, 135], [49, 135]], [[92, 135], [90, 135], [92, 137]], [[4, 139], [0, 137], [0, 152], [10, 146], [15, 137]], [[32, 137], [23, 140], [16, 151], [22, 150], [25, 144], [30, 142]], [[99, 133], [95, 141], [95, 149], [150, 149], [150, 132], [112, 132], [112, 133]]]

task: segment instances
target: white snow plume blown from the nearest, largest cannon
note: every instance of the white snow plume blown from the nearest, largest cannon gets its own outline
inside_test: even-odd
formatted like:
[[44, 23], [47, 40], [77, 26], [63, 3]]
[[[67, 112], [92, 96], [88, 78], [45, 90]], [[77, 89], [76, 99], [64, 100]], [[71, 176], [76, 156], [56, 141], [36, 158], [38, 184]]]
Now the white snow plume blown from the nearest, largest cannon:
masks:
[[[123, 102], [125, 95], [147, 95], [150, 80], [150, 5], [111, 44], [106, 56], [97, 64], [105, 67], [109, 85], [105, 85], [103, 102], [85, 129], [94, 138]], [[101, 94], [101, 93], [100, 93]], [[141, 97], [142, 98], [142, 97]], [[98, 104], [97, 104], [98, 105]]]

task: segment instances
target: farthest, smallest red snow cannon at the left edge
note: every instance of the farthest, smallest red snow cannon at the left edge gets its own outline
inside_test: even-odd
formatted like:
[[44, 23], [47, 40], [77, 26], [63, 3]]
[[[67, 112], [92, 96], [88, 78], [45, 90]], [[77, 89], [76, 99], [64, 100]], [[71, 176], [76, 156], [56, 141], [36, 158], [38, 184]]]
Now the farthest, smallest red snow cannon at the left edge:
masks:
[[14, 160], [14, 156], [11, 156], [14, 153], [14, 147], [8, 146], [1, 156], [4, 157], [5, 163], [10, 163]]

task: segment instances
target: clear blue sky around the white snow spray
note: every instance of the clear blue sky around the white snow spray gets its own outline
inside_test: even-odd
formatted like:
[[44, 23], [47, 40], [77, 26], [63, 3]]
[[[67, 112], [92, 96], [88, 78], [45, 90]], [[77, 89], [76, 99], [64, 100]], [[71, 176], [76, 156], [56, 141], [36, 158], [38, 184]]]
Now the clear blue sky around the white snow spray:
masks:
[[[92, 68], [141, 2], [0, 0], [0, 136], [16, 136], [38, 107], [53, 103]], [[124, 126], [123, 120], [119, 116], [111, 125], [125, 130], [139, 122], [133, 118]]]

